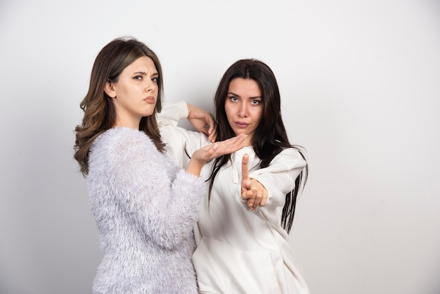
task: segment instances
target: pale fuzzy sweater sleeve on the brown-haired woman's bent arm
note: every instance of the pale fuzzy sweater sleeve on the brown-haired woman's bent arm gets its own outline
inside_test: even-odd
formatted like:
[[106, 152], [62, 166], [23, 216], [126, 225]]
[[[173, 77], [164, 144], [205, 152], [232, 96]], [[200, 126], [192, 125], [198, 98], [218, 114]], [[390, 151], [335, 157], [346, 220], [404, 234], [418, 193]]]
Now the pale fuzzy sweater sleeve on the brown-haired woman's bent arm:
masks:
[[179, 246], [198, 218], [202, 179], [179, 170], [141, 132], [119, 137], [108, 155], [114, 159], [111, 180], [120, 191], [117, 203], [127, 216], [157, 245]]

